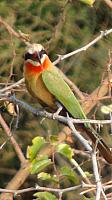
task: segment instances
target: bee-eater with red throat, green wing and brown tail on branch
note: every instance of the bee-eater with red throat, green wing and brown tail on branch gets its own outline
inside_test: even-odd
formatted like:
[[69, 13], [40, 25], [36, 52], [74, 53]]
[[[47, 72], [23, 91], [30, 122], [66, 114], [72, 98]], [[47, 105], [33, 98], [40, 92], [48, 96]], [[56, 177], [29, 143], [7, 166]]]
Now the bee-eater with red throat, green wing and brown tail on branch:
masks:
[[[42, 106], [48, 107], [54, 113], [60, 107], [65, 108], [73, 118], [87, 119], [79, 100], [41, 44], [27, 46], [24, 54], [24, 77], [27, 90]], [[81, 125], [81, 129], [97, 144], [100, 154], [112, 164], [112, 153], [105, 141], [89, 123]]]

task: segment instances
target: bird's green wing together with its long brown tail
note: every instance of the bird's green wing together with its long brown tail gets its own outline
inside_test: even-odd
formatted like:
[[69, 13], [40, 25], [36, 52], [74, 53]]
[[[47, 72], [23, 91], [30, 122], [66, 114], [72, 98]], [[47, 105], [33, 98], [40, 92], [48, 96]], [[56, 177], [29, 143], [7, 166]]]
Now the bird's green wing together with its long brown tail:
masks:
[[[70, 87], [64, 81], [63, 76], [59, 73], [58, 69], [54, 67], [52, 69], [43, 71], [42, 79], [50, 93], [52, 93], [55, 98], [61, 102], [62, 105], [64, 105], [67, 111], [74, 118], [87, 119], [80, 103], [78, 102]], [[97, 147], [106, 161], [112, 164], [111, 151], [109, 150], [106, 143], [102, 140], [102, 138], [97, 135], [96, 131], [91, 127], [89, 123], [84, 123], [83, 128], [91, 140], [94, 143], [97, 143]]]

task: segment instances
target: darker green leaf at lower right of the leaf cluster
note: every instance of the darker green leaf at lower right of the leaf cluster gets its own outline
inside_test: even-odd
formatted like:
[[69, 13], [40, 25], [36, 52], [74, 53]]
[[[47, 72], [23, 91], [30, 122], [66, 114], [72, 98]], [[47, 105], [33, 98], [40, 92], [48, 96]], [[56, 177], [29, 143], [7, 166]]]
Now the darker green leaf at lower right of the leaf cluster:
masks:
[[70, 181], [72, 181], [75, 184], [79, 184], [79, 177], [78, 175], [69, 167], [62, 167], [60, 169], [61, 175], [67, 177]]

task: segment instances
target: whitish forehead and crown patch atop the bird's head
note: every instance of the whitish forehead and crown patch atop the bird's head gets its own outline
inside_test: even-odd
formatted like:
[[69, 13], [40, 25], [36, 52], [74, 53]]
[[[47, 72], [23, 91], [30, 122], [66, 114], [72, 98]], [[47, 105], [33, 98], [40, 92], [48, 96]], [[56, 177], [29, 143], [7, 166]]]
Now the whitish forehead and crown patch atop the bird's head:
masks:
[[42, 49], [44, 49], [44, 47], [41, 45], [41, 44], [30, 44], [27, 48], [26, 48], [26, 51], [30, 54], [33, 54], [35, 51], [36, 52], [39, 52], [41, 51]]

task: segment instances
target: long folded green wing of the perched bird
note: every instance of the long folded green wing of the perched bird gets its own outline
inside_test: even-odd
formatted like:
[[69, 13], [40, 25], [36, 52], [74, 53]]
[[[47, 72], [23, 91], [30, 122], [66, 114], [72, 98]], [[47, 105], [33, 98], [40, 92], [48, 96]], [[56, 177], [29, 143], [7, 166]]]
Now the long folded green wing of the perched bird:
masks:
[[70, 87], [63, 80], [63, 77], [55, 67], [42, 72], [42, 79], [47, 89], [61, 102], [74, 118], [85, 118], [86, 116], [79, 104], [77, 98], [73, 94]]

